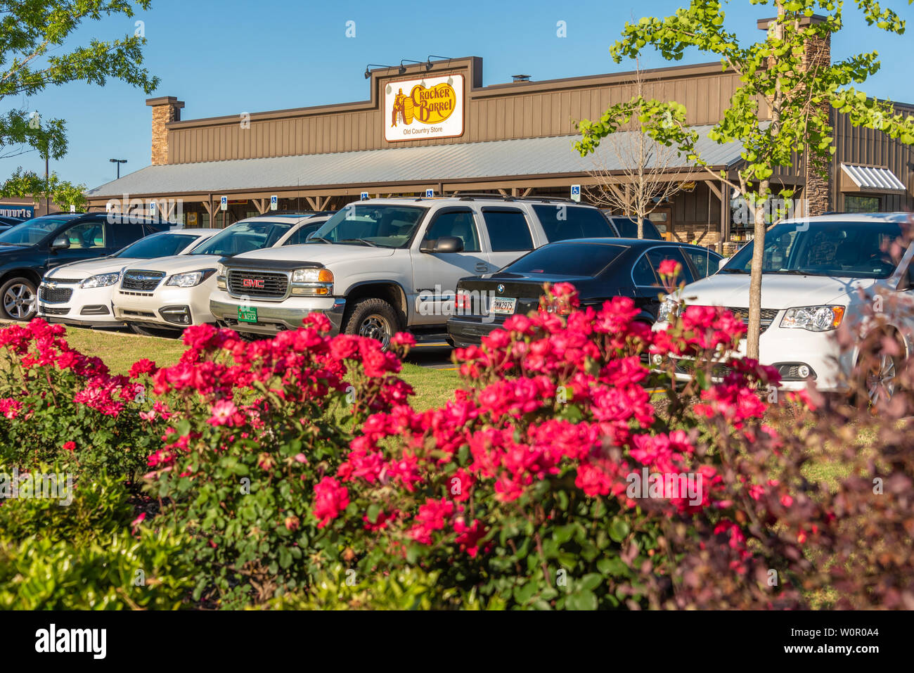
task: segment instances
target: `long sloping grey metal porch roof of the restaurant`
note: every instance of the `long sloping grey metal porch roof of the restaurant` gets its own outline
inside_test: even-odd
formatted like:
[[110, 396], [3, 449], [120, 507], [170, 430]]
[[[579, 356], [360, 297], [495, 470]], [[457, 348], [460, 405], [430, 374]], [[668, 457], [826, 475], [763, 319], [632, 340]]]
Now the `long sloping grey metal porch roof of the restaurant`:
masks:
[[[707, 137], [711, 126], [696, 126], [697, 150], [711, 166], [739, 161], [740, 144], [717, 144]], [[612, 144], [623, 144], [638, 132], [605, 138], [596, 153], [581, 157], [572, 146], [579, 135], [497, 140], [361, 150], [323, 155], [232, 159], [193, 164], [148, 166], [90, 189], [90, 198], [130, 195], [190, 194], [257, 190], [273, 187], [371, 186], [432, 184], [452, 180], [507, 176], [586, 175], [595, 170], [622, 170]], [[674, 156], [671, 170], [688, 167]]]

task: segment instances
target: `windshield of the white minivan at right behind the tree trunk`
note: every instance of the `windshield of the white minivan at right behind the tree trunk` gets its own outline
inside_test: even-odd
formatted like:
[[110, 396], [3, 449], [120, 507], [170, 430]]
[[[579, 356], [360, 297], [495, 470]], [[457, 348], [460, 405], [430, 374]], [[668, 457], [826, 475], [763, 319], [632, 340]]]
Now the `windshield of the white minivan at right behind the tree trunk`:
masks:
[[[888, 246], [901, 235], [893, 222], [784, 222], [765, 234], [762, 273], [887, 278], [895, 272]], [[749, 273], [754, 241], [721, 272]]]

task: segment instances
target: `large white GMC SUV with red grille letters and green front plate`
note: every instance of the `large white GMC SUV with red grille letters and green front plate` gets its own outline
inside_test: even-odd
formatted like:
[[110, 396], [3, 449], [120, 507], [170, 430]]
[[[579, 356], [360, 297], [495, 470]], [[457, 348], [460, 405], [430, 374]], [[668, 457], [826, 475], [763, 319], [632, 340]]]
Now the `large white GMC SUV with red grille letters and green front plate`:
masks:
[[442, 338], [457, 282], [556, 240], [616, 237], [597, 208], [561, 198], [376, 198], [350, 203], [302, 245], [219, 261], [209, 310], [275, 335], [321, 312], [335, 332]]

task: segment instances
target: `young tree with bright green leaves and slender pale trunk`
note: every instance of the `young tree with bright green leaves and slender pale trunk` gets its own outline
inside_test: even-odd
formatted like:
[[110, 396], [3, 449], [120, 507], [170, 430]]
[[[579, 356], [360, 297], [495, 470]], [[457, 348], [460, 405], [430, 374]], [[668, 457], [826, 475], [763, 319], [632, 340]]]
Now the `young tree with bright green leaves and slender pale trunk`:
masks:
[[[719, 144], [743, 145], [743, 162], [736, 179], [726, 173], [718, 177], [738, 190], [753, 210], [747, 354], [758, 358], [765, 203], [772, 196], [775, 168], [792, 166], [796, 154], [824, 172], [834, 153], [830, 107], [845, 112], [856, 126], [878, 129], [906, 144], [914, 144], [914, 118], [895, 112], [890, 102], [874, 100], [855, 89], [854, 84], [864, 82], [879, 69], [876, 51], [834, 62], [812, 58], [812, 45], [829, 39], [844, 26], [841, 0], [739, 1], [771, 6], [775, 16], [763, 40], [741, 44], [735, 33], [724, 28], [724, 3], [693, 0], [673, 16], [643, 17], [636, 24], [626, 23], [622, 39], [610, 52], [618, 63], [623, 58], [637, 58], [647, 47], [656, 48], [664, 59], [671, 60], [682, 59], [686, 48], [696, 48], [718, 57], [724, 69], [739, 76], [740, 86], [728, 109], [708, 135]], [[868, 26], [904, 33], [905, 22], [891, 9], [883, 9], [876, 0], [855, 3]], [[599, 120], [582, 120], [577, 148], [581, 155], [587, 155], [601, 138], [621, 127], [640, 124], [644, 133], [677, 146], [696, 166], [707, 168], [696, 151], [698, 135], [685, 125], [685, 112], [685, 106], [678, 102], [638, 96], [613, 105]], [[793, 196], [790, 188], [779, 193], [784, 198]]]

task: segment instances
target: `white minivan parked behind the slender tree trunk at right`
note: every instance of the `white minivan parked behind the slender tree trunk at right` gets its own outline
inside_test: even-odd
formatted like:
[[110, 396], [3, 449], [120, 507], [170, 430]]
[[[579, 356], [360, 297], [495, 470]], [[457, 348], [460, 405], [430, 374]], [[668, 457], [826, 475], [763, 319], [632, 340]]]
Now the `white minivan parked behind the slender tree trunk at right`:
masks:
[[[901, 358], [912, 342], [914, 310], [914, 245], [901, 238], [909, 213], [835, 214], [793, 219], [765, 234], [761, 280], [759, 359], [781, 372], [785, 390], [806, 388], [814, 380], [824, 392], [845, 391], [859, 358], [860, 345], [873, 336], [874, 308], [884, 310], [886, 325], [879, 336], [898, 341], [900, 355], [880, 359], [866, 381], [871, 400], [890, 397]], [[901, 243], [893, 259], [891, 246]], [[725, 306], [748, 322], [749, 269], [754, 244], [737, 252], [717, 273], [686, 285], [661, 306], [655, 329], [663, 328], [671, 311], [685, 304]], [[897, 251], [898, 252], [898, 251]], [[892, 300], [898, 306], [889, 309]], [[883, 305], [884, 304], [884, 305]], [[835, 330], [846, 324], [861, 341], [842, 349]], [[740, 345], [745, 353], [745, 340]], [[688, 379], [688, 363], [679, 361], [677, 377]]]

